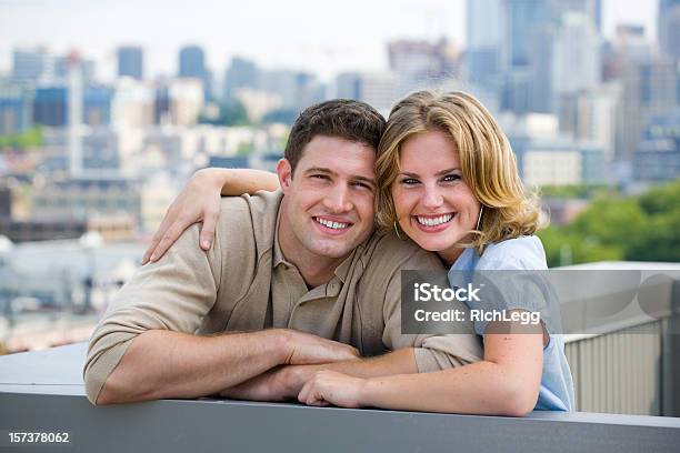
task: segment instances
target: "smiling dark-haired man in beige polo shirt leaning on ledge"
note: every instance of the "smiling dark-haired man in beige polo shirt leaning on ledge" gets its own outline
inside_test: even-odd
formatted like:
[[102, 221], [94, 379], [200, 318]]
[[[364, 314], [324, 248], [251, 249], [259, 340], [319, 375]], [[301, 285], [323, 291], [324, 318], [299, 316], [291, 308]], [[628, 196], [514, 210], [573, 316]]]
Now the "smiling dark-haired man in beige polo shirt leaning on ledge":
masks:
[[357, 101], [302, 112], [277, 167], [280, 192], [223, 199], [208, 252], [194, 225], [117, 294], [90, 340], [88, 399], [281, 401], [323, 369], [369, 378], [479, 360], [471, 324], [400, 332], [400, 271], [441, 264], [373, 232], [383, 129]]

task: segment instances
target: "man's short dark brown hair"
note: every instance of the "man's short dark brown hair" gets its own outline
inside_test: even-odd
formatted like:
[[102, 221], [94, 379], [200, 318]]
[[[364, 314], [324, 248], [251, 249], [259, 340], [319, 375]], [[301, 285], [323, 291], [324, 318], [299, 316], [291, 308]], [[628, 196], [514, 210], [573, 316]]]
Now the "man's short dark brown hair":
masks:
[[366, 102], [333, 99], [308, 107], [296, 120], [283, 157], [294, 171], [304, 147], [317, 135], [334, 137], [378, 149], [384, 118]]

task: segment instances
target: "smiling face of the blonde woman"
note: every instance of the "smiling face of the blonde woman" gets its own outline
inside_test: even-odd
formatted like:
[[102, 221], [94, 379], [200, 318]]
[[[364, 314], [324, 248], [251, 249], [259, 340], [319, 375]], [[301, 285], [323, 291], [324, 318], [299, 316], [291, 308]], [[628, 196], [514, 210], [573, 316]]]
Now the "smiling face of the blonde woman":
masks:
[[399, 225], [418, 245], [452, 263], [477, 226], [480, 203], [462, 180], [456, 143], [440, 131], [407, 139], [392, 184]]

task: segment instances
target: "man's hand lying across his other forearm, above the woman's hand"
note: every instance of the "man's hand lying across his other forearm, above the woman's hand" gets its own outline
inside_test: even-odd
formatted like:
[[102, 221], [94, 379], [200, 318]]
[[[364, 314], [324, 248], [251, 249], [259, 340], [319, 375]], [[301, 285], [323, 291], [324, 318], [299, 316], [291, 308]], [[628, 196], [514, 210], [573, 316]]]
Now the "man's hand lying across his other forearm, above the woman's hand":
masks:
[[349, 344], [291, 329], [283, 330], [287, 348], [286, 365], [343, 362], [359, 359], [359, 351]]

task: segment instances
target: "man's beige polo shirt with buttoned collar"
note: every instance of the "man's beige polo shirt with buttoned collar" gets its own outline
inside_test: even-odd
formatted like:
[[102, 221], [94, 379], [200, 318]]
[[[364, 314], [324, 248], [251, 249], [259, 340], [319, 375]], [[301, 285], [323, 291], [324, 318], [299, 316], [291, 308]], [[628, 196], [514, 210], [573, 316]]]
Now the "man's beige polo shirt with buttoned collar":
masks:
[[[309, 290], [278, 243], [282, 194], [222, 199], [214, 244], [198, 246], [199, 225], [187, 230], [156, 263], [140, 268], [110, 303], [92, 333], [86, 393], [97, 401], [131, 341], [148, 330], [210, 334], [288, 328], [356, 346], [362, 355], [414, 348], [420, 372], [481, 359], [472, 324], [452, 335], [401, 334], [400, 271], [442, 269], [411, 242], [373, 233]], [[464, 304], [456, 306], [467, 310]]]

